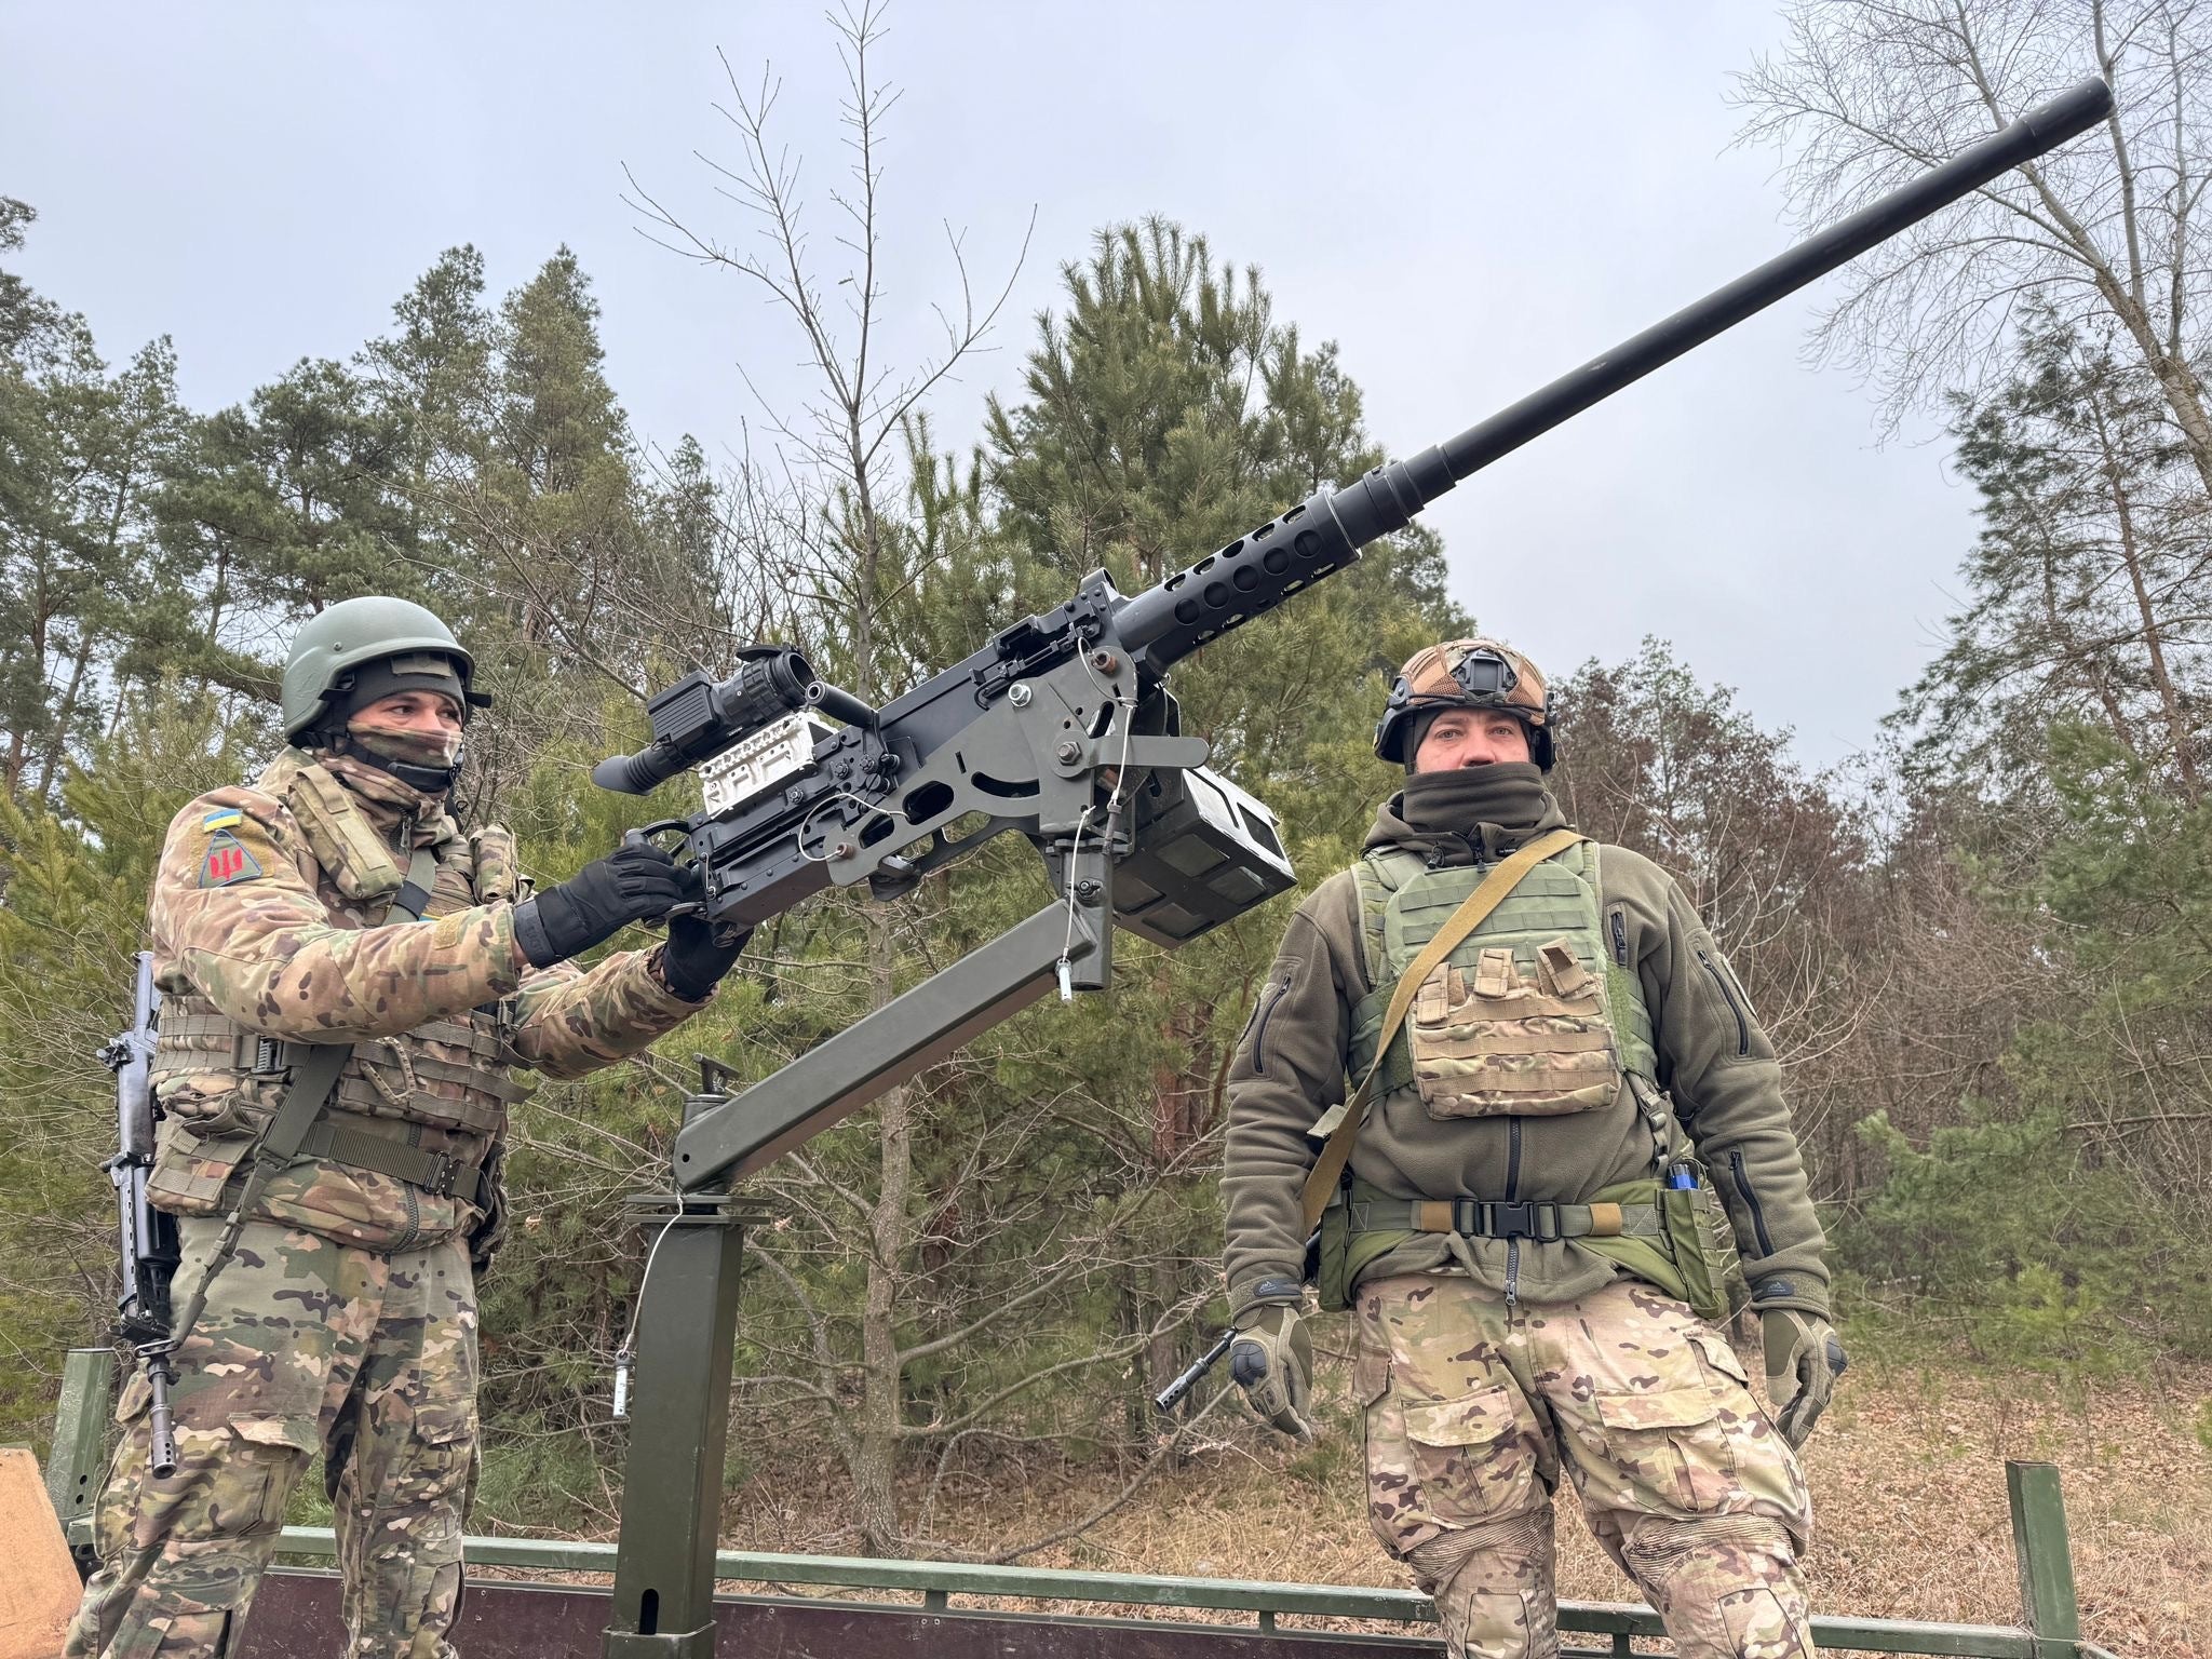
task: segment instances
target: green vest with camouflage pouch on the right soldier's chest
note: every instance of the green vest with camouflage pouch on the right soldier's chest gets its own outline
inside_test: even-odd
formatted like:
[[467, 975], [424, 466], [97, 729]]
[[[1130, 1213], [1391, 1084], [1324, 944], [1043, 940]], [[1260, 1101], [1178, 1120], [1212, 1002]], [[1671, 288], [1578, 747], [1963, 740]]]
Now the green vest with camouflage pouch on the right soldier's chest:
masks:
[[[1453, 1119], [1610, 1106], [1624, 1077], [1657, 1093], [1644, 987], [1606, 949], [1597, 863], [1593, 841], [1546, 858], [1444, 958], [1383, 1060], [1376, 1097], [1411, 1088], [1429, 1117]], [[1405, 847], [1354, 867], [1374, 987], [1354, 1011], [1354, 1077], [1374, 1060], [1398, 975], [1484, 874], [1429, 869]]]

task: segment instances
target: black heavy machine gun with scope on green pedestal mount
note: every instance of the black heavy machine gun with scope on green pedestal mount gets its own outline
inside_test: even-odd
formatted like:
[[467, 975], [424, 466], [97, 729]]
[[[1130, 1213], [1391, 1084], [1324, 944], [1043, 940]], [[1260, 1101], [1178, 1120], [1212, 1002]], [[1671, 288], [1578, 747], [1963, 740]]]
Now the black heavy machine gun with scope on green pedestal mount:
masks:
[[[1064, 998], [1104, 989], [1117, 925], [1175, 947], [1292, 885], [1274, 816], [1206, 768], [1206, 743], [1179, 734], [1168, 670], [1343, 571], [1500, 456], [2110, 108], [2106, 84], [2088, 80], [1458, 438], [1321, 489], [1144, 593], [1121, 595], [1093, 571], [1066, 604], [880, 710], [779, 646], [750, 650], [728, 679], [695, 672], [653, 699], [653, 743], [593, 776], [644, 794], [699, 770], [706, 810], [648, 834], [684, 834], [703, 914], [726, 936], [832, 885], [896, 896], [1004, 832], [1037, 847], [1055, 898], [750, 1088], [732, 1093], [730, 1073], [708, 1062], [686, 1102], [672, 1188], [635, 1201], [659, 1232], [639, 1292], [608, 1655], [714, 1652], [739, 1245], [757, 1219], [730, 1183], [1055, 987]], [[630, 1360], [626, 1347], [617, 1383]]]

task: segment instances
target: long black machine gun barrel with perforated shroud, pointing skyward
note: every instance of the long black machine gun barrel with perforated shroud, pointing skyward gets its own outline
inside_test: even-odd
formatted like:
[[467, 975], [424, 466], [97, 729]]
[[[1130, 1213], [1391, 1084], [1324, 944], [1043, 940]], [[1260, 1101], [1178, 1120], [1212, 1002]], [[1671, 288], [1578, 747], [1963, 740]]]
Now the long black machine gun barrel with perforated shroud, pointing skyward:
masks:
[[1376, 467], [1345, 491], [1316, 491], [1283, 518], [1135, 595], [1115, 617], [1124, 644], [1141, 653], [1152, 675], [1166, 672], [1208, 639], [1345, 568], [1363, 546], [1405, 529], [1413, 513], [1500, 456], [1513, 453], [1531, 438], [1544, 436], [1562, 420], [1610, 398], [2022, 161], [2033, 161], [2086, 133], [2110, 108], [2112, 88], [2090, 77], [1458, 438]]

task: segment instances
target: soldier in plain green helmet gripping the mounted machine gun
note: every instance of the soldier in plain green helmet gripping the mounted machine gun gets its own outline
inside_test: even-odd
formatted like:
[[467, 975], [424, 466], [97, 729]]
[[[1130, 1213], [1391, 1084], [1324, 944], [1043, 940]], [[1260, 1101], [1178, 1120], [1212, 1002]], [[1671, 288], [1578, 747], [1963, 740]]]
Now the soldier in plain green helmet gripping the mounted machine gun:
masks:
[[[498, 825], [447, 812], [473, 661], [405, 599], [307, 622], [290, 748], [168, 827], [150, 931], [166, 1115], [148, 1197], [179, 1217], [177, 1467], [148, 1385], [97, 1509], [71, 1655], [237, 1652], [285, 1500], [325, 1455], [349, 1655], [447, 1659], [476, 1469], [476, 1281], [500, 1221], [511, 1068], [575, 1077], [697, 1013], [737, 960], [668, 914], [686, 876], [624, 845], [533, 894]], [[288, 1141], [296, 1141], [290, 1152]]]

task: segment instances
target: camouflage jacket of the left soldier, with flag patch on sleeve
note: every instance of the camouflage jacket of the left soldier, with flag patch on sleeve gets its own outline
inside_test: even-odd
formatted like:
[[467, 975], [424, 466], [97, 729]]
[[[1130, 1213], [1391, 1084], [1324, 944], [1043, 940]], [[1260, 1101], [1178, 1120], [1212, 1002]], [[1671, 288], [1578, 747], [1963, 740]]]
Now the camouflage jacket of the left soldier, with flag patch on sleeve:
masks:
[[[383, 927], [411, 849], [436, 856], [436, 885], [422, 920]], [[150, 905], [166, 1115], [153, 1201], [226, 1212], [294, 1044], [354, 1044], [327, 1121], [473, 1170], [495, 1159], [524, 1095], [513, 1068], [575, 1077], [699, 1011], [644, 951], [529, 969], [520, 889], [509, 832], [465, 836], [436, 801], [358, 761], [288, 750], [252, 785], [184, 807]], [[405, 1250], [473, 1228], [491, 1203], [478, 1197], [321, 1157], [270, 1181], [252, 1219]]]

